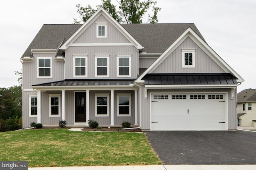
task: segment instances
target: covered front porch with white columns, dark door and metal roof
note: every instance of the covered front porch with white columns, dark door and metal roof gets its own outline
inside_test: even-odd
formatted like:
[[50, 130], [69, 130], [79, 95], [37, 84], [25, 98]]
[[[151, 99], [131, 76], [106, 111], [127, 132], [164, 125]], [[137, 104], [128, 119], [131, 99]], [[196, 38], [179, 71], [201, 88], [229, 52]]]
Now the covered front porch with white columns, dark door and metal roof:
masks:
[[37, 122], [56, 127], [86, 127], [94, 119], [101, 127], [138, 126], [138, 86], [134, 80], [63, 80], [33, 85], [37, 91]]

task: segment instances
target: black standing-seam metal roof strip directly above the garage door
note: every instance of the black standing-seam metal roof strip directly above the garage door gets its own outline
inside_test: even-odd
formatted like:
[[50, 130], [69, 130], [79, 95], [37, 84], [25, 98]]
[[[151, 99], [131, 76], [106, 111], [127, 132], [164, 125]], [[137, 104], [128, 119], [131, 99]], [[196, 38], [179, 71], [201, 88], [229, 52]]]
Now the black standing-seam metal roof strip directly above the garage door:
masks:
[[144, 79], [145, 85], [237, 84], [237, 78], [230, 73], [146, 74], [142, 79]]

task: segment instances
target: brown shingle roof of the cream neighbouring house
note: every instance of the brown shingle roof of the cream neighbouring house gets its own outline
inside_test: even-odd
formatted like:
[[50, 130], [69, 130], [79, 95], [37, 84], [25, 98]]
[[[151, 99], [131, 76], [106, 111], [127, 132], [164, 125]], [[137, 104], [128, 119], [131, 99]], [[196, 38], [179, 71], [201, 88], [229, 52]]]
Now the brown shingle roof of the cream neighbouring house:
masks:
[[237, 94], [237, 102], [256, 102], [256, 89], [246, 89]]

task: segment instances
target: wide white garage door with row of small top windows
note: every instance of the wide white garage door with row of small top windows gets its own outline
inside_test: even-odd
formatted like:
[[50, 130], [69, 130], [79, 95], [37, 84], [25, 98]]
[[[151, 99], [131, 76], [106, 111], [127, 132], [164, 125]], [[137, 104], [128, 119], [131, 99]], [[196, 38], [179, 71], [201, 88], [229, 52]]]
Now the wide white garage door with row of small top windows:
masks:
[[226, 130], [225, 94], [152, 94], [152, 131]]

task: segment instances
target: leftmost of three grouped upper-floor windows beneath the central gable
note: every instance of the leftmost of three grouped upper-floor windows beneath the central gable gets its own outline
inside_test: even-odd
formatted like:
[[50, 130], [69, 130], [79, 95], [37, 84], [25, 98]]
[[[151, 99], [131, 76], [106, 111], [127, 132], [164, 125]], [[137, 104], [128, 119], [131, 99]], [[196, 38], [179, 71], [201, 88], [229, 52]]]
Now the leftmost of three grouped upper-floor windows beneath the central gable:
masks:
[[73, 56], [74, 64], [74, 77], [87, 77], [87, 55], [86, 56]]

